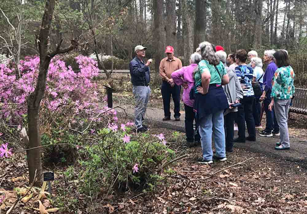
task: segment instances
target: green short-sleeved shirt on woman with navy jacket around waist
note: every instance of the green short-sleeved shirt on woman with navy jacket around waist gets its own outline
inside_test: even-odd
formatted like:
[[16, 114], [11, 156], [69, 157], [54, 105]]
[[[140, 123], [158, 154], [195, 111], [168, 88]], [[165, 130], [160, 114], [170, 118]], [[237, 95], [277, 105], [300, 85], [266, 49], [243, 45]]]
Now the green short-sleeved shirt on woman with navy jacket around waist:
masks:
[[223, 78], [223, 76], [226, 73], [226, 69], [223, 65], [223, 63], [220, 61], [220, 64], [216, 65], [216, 68], [218, 69], [217, 73], [214, 65], [209, 64], [208, 60], [202, 60], [198, 63], [198, 70], [195, 73], [195, 93], [198, 93], [196, 91], [197, 86], [201, 85], [201, 74], [204, 73], [205, 71], [209, 72], [211, 75], [211, 79], [210, 79], [210, 84], [222, 84], [222, 79], [221, 76]]

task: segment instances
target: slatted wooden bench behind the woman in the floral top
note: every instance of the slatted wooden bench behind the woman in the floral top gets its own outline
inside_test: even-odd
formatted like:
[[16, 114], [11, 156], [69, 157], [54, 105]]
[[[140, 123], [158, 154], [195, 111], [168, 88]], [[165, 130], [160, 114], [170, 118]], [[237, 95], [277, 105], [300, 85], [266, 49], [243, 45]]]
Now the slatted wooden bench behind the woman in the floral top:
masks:
[[295, 89], [289, 112], [307, 115], [307, 89]]

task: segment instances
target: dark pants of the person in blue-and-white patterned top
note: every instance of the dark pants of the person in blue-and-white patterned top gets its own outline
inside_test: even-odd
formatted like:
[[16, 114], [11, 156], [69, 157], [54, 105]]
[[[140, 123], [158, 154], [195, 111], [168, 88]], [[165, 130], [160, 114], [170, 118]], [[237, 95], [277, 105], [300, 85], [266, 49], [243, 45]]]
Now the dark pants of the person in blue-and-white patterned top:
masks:
[[238, 136], [240, 139], [245, 140], [245, 121], [247, 125], [247, 132], [249, 137], [256, 138], [255, 121], [253, 117], [253, 102], [255, 96], [243, 96], [240, 100], [240, 105], [238, 107], [237, 121], [238, 121]]

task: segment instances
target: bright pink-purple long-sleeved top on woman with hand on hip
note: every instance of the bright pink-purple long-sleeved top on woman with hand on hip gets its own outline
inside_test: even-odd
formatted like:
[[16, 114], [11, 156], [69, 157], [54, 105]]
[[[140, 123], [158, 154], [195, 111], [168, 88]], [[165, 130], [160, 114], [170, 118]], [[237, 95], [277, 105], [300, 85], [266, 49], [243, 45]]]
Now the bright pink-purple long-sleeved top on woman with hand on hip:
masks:
[[172, 73], [172, 79], [177, 85], [182, 85], [182, 83], [187, 83], [188, 88], [183, 89], [182, 101], [185, 105], [193, 107], [194, 100], [190, 100], [190, 91], [194, 86], [193, 72], [197, 64], [191, 64], [189, 66], [182, 67], [181, 69], [174, 71]]

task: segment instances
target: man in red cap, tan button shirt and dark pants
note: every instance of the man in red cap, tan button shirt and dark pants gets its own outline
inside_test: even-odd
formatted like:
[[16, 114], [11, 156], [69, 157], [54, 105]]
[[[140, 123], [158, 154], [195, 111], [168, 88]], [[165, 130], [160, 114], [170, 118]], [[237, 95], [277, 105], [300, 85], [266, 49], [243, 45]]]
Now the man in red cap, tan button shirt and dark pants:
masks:
[[159, 66], [160, 76], [162, 77], [161, 93], [164, 107], [164, 118], [162, 120], [167, 121], [171, 119], [171, 112], [169, 110], [169, 104], [171, 95], [174, 101], [174, 117], [175, 121], [180, 121], [180, 90], [181, 86], [176, 85], [173, 81], [171, 74], [182, 68], [182, 62], [177, 57], [174, 57], [174, 48], [167, 46], [165, 48], [165, 54], [167, 57], [161, 60]]

